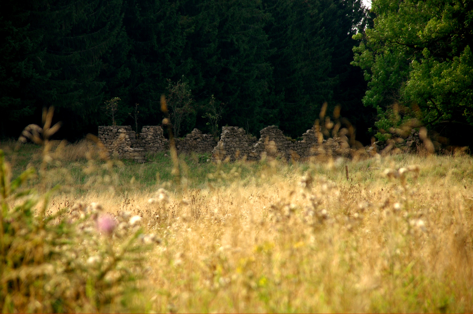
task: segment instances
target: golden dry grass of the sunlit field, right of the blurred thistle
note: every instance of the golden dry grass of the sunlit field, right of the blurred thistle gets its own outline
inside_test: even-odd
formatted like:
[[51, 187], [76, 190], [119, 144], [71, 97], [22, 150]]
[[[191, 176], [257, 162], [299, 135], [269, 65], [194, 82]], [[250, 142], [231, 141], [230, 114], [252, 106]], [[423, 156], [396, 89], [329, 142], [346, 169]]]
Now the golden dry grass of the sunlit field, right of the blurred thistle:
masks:
[[[383, 174], [413, 165], [418, 177]], [[63, 193], [53, 207], [99, 202], [143, 217], [163, 240], [132, 301], [149, 312], [473, 310], [471, 157], [236, 163], [210, 177], [193, 189]], [[159, 187], [169, 203], [149, 203]]]

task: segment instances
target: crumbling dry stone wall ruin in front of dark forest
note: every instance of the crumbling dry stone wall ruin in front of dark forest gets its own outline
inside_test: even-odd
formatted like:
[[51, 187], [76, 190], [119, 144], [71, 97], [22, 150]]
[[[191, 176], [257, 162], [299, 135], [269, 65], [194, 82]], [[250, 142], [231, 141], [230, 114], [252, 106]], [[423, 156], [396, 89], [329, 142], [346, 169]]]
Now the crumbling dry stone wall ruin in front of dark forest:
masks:
[[[109, 156], [145, 162], [145, 154], [169, 148], [169, 141], [160, 126], [144, 126], [136, 139], [131, 126], [100, 126], [98, 137], [107, 148]], [[419, 132], [412, 131], [403, 143], [375, 142], [371, 147], [361, 149], [367, 156], [383, 149], [402, 146], [405, 151], [417, 150], [421, 145]], [[389, 146], [389, 148], [387, 148]], [[260, 160], [279, 157], [286, 161], [307, 160], [312, 157], [350, 157], [355, 150], [350, 148], [344, 135], [324, 139], [313, 127], [302, 135], [302, 140], [292, 140], [277, 126], [271, 125], [260, 131], [260, 138], [246, 134], [243, 128], [224, 126], [217, 141], [210, 134], [194, 129], [185, 138], [176, 139], [179, 154], [211, 153], [213, 161], [235, 161], [237, 159]], [[361, 150], [357, 151], [357, 154]]]

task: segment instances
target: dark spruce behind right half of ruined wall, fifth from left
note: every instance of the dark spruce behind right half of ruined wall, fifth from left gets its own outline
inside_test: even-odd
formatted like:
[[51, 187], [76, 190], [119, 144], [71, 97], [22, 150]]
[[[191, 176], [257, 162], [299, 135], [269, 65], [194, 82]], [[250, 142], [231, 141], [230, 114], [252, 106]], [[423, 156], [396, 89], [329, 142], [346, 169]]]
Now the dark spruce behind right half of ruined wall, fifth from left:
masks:
[[[330, 2], [330, 1], [325, 1]], [[329, 76], [333, 47], [326, 27], [327, 3], [319, 0], [265, 0], [272, 20], [265, 27], [274, 54], [274, 100], [281, 130], [300, 136], [310, 128], [321, 105], [332, 97]]]

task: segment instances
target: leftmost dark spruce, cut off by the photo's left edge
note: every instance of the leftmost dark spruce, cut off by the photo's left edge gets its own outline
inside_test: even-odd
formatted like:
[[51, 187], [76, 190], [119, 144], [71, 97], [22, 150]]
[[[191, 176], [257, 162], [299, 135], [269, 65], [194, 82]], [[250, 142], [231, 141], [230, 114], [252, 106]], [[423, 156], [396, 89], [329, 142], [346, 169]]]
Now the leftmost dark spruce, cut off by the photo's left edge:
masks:
[[0, 1], [0, 134], [17, 136], [35, 111], [42, 32], [31, 28], [27, 1]]

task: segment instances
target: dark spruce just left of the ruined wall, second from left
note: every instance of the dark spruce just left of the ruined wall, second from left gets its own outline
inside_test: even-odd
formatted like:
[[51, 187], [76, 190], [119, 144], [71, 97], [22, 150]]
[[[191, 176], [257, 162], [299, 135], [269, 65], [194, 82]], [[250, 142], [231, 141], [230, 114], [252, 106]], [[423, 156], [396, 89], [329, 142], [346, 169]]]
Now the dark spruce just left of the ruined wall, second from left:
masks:
[[50, 75], [39, 101], [54, 105], [66, 128], [83, 132], [100, 121], [105, 82], [97, 78], [122, 28], [122, 0], [46, 0], [33, 9], [31, 24], [44, 34], [41, 71]]

